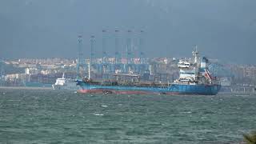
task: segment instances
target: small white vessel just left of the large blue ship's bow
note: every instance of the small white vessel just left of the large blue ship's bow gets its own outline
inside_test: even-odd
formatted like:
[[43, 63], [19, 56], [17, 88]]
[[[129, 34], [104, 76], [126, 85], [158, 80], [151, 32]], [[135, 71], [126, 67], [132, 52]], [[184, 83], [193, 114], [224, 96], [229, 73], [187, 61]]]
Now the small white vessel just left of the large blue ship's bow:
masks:
[[77, 91], [80, 89], [80, 86], [77, 86], [77, 82], [74, 79], [65, 78], [63, 73], [62, 78], [57, 78], [56, 82], [52, 85], [54, 90], [74, 90]]

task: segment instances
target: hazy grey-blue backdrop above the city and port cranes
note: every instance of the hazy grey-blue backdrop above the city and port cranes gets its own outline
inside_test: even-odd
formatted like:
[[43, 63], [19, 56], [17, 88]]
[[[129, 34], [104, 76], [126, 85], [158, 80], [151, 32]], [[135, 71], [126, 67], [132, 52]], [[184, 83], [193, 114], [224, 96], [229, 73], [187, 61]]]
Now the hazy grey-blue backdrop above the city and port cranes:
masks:
[[1, 0], [0, 57], [75, 58], [78, 34], [88, 57], [90, 35], [99, 52], [103, 29], [111, 55], [114, 30], [123, 43], [126, 30], [144, 30], [147, 57], [189, 57], [196, 44], [202, 56], [255, 64], [255, 7], [255, 0]]

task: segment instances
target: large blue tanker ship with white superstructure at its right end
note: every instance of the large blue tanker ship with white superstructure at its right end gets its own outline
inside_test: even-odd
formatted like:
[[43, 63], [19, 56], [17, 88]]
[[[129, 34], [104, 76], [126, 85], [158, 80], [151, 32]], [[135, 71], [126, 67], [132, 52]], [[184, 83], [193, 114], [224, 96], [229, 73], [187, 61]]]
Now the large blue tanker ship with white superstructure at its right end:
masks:
[[77, 85], [81, 87], [78, 93], [218, 94], [221, 85], [218, 78], [210, 74], [208, 70], [208, 59], [205, 57], [199, 58], [197, 47], [193, 50], [192, 54], [194, 58], [179, 60], [179, 78], [172, 83], [141, 82], [140, 76], [137, 74], [114, 74], [113, 79], [105, 81], [94, 81], [89, 76], [89, 78], [83, 78], [77, 81]]

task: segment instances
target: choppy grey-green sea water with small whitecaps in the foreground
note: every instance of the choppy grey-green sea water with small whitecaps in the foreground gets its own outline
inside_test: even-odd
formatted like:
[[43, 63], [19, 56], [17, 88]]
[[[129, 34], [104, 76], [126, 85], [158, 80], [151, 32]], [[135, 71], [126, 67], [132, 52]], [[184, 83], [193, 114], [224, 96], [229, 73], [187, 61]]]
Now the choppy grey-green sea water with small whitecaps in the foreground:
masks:
[[94, 95], [0, 89], [0, 143], [241, 143], [256, 95]]

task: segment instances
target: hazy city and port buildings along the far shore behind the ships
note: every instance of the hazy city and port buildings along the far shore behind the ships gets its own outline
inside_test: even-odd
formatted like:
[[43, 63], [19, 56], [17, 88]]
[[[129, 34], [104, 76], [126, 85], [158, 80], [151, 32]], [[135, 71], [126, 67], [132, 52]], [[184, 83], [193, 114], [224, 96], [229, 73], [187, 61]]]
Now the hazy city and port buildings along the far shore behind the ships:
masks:
[[[146, 81], [173, 82], [178, 78], [178, 58], [145, 58], [141, 64], [138, 58], [133, 58], [130, 63], [120, 61], [115, 63], [114, 58], [96, 58], [91, 64], [90, 77], [94, 79], [112, 78], [113, 74], [128, 72], [140, 74]], [[22, 58], [4, 60], [1, 62], [1, 86], [51, 86], [57, 78], [88, 77], [88, 63], [85, 59], [84, 66], [79, 67], [77, 74], [77, 59], [68, 58]], [[213, 61], [214, 62], [214, 61]], [[222, 84], [226, 91], [254, 91], [256, 85], [256, 66], [246, 65], [219, 65], [211, 64], [210, 71]], [[216, 65], [216, 66], [215, 66]]]

